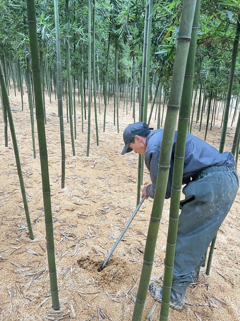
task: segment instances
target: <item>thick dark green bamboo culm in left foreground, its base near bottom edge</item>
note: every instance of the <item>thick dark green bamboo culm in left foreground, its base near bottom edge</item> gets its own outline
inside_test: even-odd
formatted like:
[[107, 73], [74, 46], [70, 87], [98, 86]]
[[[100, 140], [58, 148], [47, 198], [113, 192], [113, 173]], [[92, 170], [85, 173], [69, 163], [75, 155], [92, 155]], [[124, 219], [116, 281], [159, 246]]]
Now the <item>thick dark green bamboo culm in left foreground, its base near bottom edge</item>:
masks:
[[57, 271], [55, 262], [54, 239], [53, 239], [53, 224], [52, 224], [52, 208], [51, 208], [51, 191], [48, 172], [48, 156], [47, 144], [44, 124], [44, 106], [41, 87], [41, 72], [39, 63], [39, 52], [37, 43], [37, 28], [36, 28], [36, 10], [35, 1], [27, 0], [28, 10], [28, 32], [30, 40], [30, 52], [33, 72], [34, 95], [36, 101], [36, 122], [39, 143], [39, 154], [42, 174], [43, 186], [43, 202], [46, 228], [46, 243], [48, 268], [50, 277], [50, 289], [52, 297], [52, 308], [59, 310], [58, 285], [57, 285]]

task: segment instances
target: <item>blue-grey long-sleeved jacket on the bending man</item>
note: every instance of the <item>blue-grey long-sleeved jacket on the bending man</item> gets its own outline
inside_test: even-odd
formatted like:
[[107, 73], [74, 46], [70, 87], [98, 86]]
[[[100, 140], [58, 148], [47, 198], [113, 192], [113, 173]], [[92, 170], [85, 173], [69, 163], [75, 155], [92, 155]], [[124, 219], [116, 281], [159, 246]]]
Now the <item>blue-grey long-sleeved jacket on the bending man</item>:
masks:
[[[156, 178], [158, 170], [158, 162], [162, 145], [163, 129], [156, 129], [146, 138], [146, 152], [144, 155], [145, 164], [150, 172], [152, 184], [147, 187], [147, 194], [154, 197]], [[167, 190], [165, 198], [171, 196], [173, 160], [176, 145], [177, 131], [175, 131], [171, 164], [168, 176]], [[187, 134], [187, 142], [185, 149], [184, 168], [182, 184], [188, 184], [191, 178], [194, 178], [200, 169], [209, 166], [235, 166], [233, 154], [230, 152], [221, 153], [213, 146], [204, 142], [200, 138]]]

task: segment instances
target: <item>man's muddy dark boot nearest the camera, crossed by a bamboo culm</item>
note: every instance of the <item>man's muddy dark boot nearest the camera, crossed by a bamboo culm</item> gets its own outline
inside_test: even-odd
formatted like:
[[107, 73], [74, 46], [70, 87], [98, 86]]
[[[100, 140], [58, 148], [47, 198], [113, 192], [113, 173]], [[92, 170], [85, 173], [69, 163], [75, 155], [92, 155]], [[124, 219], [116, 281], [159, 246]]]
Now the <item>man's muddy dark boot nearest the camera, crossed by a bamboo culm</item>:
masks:
[[[151, 283], [148, 288], [152, 297], [158, 301], [162, 302], [162, 290], [163, 287], [159, 286], [155, 283]], [[170, 307], [181, 311], [184, 306], [184, 296], [187, 290], [187, 286], [181, 287], [180, 292], [176, 290], [171, 290], [171, 297], [170, 297]]]

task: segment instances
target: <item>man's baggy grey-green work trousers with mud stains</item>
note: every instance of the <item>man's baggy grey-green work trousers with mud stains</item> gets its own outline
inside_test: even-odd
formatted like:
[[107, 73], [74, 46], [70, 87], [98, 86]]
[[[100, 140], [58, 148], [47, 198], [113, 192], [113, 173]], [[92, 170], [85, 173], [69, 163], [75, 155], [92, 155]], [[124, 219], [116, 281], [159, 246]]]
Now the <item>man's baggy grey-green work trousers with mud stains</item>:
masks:
[[179, 216], [174, 290], [193, 282], [190, 273], [202, 265], [204, 253], [228, 214], [237, 190], [236, 170], [227, 166], [202, 169], [183, 188], [185, 204]]

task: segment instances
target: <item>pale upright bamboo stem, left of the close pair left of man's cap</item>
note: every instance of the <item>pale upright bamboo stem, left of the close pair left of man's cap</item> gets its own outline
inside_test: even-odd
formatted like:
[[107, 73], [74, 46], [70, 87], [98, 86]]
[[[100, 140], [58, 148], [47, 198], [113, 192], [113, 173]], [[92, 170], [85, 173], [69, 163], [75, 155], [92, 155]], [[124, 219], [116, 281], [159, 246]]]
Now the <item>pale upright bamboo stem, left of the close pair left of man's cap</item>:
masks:
[[91, 0], [88, 0], [88, 127], [87, 127], [87, 156], [89, 156], [91, 132], [91, 99], [92, 99], [92, 66], [91, 66]]

